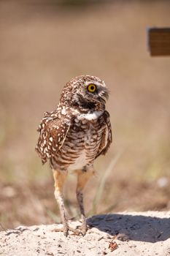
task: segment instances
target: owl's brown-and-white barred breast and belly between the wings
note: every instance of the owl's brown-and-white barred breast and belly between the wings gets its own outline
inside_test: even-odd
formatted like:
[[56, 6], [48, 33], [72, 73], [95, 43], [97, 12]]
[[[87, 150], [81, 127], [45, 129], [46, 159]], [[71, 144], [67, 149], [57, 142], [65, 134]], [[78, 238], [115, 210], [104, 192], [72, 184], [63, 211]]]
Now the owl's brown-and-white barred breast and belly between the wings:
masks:
[[82, 114], [74, 119], [61, 150], [52, 158], [53, 167], [77, 170], [93, 165], [102, 133], [106, 129], [104, 122], [98, 121], [102, 113], [98, 112], [88, 116]]

